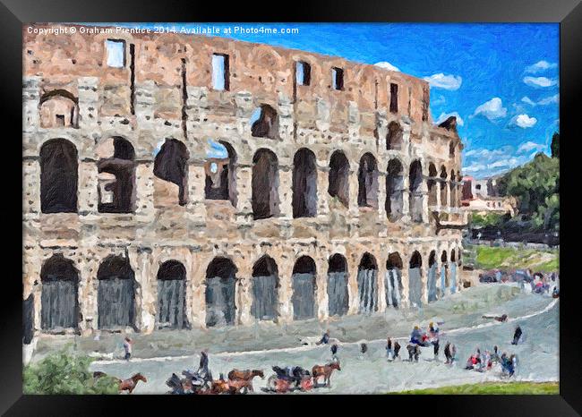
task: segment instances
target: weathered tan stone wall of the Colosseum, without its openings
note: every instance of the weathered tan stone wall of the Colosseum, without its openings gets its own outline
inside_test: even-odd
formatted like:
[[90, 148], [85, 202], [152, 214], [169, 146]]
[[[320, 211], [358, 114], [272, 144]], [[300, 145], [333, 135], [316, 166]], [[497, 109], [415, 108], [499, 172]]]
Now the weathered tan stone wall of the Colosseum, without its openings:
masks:
[[[136, 323], [141, 331], [155, 328], [156, 275], [165, 260], [184, 264], [187, 275], [186, 314], [194, 326], [205, 323], [206, 268], [216, 256], [226, 256], [238, 269], [237, 323], [252, 321], [252, 265], [268, 254], [278, 265], [279, 314], [293, 319], [291, 272], [302, 255], [317, 266], [317, 314], [327, 318], [327, 262], [334, 253], [347, 258], [350, 313], [357, 312], [358, 264], [371, 253], [379, 268], [380, 310], [386, 307], [383, 276], [388, 254], [403, 260], [407, 303], [407, 265], [414, 251], [423, 259], [423, 299], [429, 254], [461, 251], [458, 230], [437, 233], [423, 182], [423, 222], [408, 215], [408, 167], [419, 159], [424, 176], [429, 165], [460, 174], [462, 144], [457, 132], [423, 121], [426, 82], [401, 72], [389, 72], [342, 58], [287, 50], [224, 38], [158, 35], [34, 35], [24, 31], [23, 78], [23, 235], [24, 297], [35, 294], [39, 328], [40, 268], [55, 253], [74, 261], [79, 270], [80, 329], [97, 328], [99, 263], [108, 255], [129, 258], [137, 283]], [[130, 63], [110, 68], [105, 41], [126, 41]], [[212, 54], [229, 56], [229, 89], [214, 90]], [[295, 85], [295, 61], [311, 65], [311, 84]], [[331, 68], [344, 70], [344, 89], [331, 88]], [[132, 79], [134, 89], [132, 93]], [[186, 83], [184, 85], [183, 80]], [[389, 112], [390, 83], [398, 84], [398, 113]], [[43, 128], [39, 101], [64, 89], [77, 99], [75, 126]], [[185, 90], [185, 97], [184, 97]], [[278, 139], [251, 134], [253, 110], [268, 104], [278, 113]], [[133, 108], [133, 113], [132, 113]], [[388, 124], [403, 129], [403, 146], [387, 150]], [[135, 150], [135, 209], [133, 213], [98, 212], [98, 147], [111, 137], [128, 140]], [[40, 210], [40, 148], [47, 140], [69, 140], [78, 152], [78, 212], [44, 214]], [[156, 149], [166, 138], [181, 140], [189, 152], [185, 206], [177, 204], [176, 186], [153, 174]], [[228, 200], [205, 200], [208, 140], [227, 142], [235, 150], [236, 207]], [[454, 156], [449, 154], [453, 143]], [[293, 218], [293, 157], [311, 149], [317, 159], [317, 216]], [[278, 157], [278, 217], [252, 219], [252, 157], [271, 149]], [[348, 208], [327, 192], [330, 156], [342, 150], [349, 161]], [[358, 166], [370, 152], [379, 169], [378, 209], [358, 207]], [[404, 166], [404, 217], [389, 221], [385, 175], [388, 162]], [[457, 181], [457, 179], [455, 179]], [[460, 183], [455, 183], [460, 196]], [[449, 220], [458, 215], [439, 192], [437, 210]], [[453, 204], [455, 206], [455, 204]], [[459, 270], [460, 274], [460, 270]]]

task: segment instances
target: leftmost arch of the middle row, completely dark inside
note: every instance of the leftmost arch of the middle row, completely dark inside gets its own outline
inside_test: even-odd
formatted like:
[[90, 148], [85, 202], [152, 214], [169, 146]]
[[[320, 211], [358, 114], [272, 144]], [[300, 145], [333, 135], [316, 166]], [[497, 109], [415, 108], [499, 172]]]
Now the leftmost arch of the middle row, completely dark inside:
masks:
[[76, 213], [77, 149], [69, 140], [47, 140], [40, 148], [40, 210]]

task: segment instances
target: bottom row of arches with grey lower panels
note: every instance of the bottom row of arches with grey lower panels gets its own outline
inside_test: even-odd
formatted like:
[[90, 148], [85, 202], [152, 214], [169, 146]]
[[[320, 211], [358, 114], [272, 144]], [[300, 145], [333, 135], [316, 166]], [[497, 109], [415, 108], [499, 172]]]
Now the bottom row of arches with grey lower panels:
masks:
[[[458, 255], [460, 255], [460, 252]], [[460, 259], [459, 259], [460, 263]], [[432, 251], [427, 271], [428, 302], [440, 298], [446, 289], [457, 289], [456, 251], [441, 253], [441, 277], [437, 277], [437, 254]], [[402, 274], [405, 268], [398, 252], [389, 253], [386, 260], [384, 291], [387, 306], [399, 307], [403, 298]], [[407, 262], [408, 300], [412, 306], [422, 304], [423, 260], [420, 252], [414, 251]], [[370, 314], [379, 310], [378, 262], [365, 252], [356, 271], [357, 311]], [[206, 268], [204, 280], [207, 327], [232, 326], [237, 322], [237, 288], [240, 280], [235, 263], [226, 257], [216, 257]], [[317, 268], [309, 256], [295, 261], [291, 276], [291, 304], [293, 319], [313, 319], [318, 316]], [[79, 273], [73, 260], [57, 254], [48, 259], [40, 271], [41, 328], [56, 330], [77, 328], [81, 320], [78, 301]], [[440, 278], [440, 279], [439, 279]], [[135, 325], [135, 293], [138, 284], [129, 260], [123, 256], [109, 256], [101, 262], [98, 279], [98, 328], [116, 329]], [[349, 272], [346, 258], [335, 253], [328, 260], [327, 311], [329, 316], [346, 315], [350, 305]], [[157, 272], [157, 328], [189, 328], [186, 313], [187, 273], [178, 260], [161, 263]], [[263, 255], [252, 267], [250, 311], [256, 320], [278, 319], [280, 279], [278, 265], [269, 255]]]

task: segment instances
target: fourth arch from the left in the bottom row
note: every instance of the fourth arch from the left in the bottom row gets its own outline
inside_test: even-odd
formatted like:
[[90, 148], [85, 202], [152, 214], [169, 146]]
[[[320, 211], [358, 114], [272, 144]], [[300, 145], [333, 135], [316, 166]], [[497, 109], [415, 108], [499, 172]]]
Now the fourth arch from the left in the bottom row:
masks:
[[228, 258], [215, 258], [206, 269], [206, 327], [235, 324], [235, 293], [235, 264]]

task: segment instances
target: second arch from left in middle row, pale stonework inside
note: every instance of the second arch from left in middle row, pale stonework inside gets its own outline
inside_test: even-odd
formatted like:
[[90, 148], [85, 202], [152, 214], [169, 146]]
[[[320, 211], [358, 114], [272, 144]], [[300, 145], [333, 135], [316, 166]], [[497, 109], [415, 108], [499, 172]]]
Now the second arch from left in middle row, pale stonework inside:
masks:
[[99, 148], [113, 148], [113, 155], [101, 157], [97, 163], [99, 213], [132, 213], [135, 205], [135, 152], [132, 144], [116, 137]]

